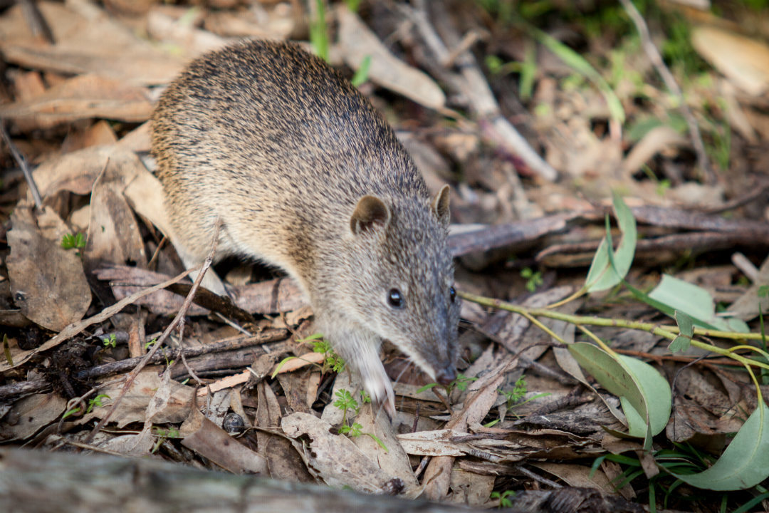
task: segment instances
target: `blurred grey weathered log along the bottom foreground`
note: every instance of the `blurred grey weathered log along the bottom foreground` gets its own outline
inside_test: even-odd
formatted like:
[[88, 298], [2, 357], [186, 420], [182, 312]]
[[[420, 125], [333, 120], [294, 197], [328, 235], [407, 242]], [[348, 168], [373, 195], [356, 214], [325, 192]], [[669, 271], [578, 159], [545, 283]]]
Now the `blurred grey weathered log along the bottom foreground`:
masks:
[[[531, 498], [528, 500], [531, 501]], [[201, 471], [150, 459], [0, 449], [0, 510], [65, 513], [73, 508], [81, 513], [481, 511], [424, 500], [408, 501], [387, 495], [364, 495], [252, 475]], [[507, 511], [523, 513], [554, 510], [540, 507]], [[614, 513], [617, 511], [621, 510], [614, 509]]]

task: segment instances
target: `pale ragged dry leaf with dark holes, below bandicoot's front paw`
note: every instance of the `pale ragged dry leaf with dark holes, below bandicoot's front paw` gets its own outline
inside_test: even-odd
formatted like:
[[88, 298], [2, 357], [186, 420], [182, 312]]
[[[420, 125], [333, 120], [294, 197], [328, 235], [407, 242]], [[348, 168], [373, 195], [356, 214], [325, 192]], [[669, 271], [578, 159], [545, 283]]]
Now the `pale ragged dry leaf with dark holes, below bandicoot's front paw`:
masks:
[[350, 487], [365, 493], [385, 493], [395, 476], [382, 471], [345, 435], [332, 435], [328, 422], [307, 413], [284, 417], [281, 428], [289, 438], [301, 438], [295, 447], [308, 470], [332, 488]]

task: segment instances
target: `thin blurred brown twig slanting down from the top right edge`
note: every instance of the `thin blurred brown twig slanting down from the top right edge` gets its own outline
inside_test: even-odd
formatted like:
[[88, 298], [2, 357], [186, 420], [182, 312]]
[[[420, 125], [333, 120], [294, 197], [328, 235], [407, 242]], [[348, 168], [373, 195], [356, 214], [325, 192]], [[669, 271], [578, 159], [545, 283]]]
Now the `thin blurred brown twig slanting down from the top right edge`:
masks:
[[667, 66], [662, 60], [662, 55], [660, 55], [659, 50], [657, 50], [657, 47], [654, 45], [654, 42], [651, 41], [649, 28], [647, 27], [646, 22], [644, 22], [644, 18], [641, 16], [641, 13], [638, 12], [638, 9], [635, 8], [635, 5], [633, 5], [631, 0], [620, 0], [620, 3], [622, 4], [625, 12], [628, 13], [628, 16], [630, 16], [631, 21], [635, 25], [635, 28], [638, 30], [638, 35], [641, 36], [641, 45], [644, 47], [644, 52], [646, 52], [647, 57], [651, 61], [651, 64], [654, 65], [654, 68], [657, 69], [657, 73], [660, 74], [660, 77], [665, 83], [667, 90], [673, 93], [673, 95], [675, 95], [677, 98], [678, 105], [680, 105], [681, 108], [681, 114], [684, 115], [686, 123], [689, 125], [691, 145], [694, 147], [694, 153], [697, 154], [697, 165], [700, 166], [704, 174], [705, 182], [711, 184], [715, 183], [716, 176], [713, 172], [713, 169], [711, 168], [710, 162], [707, 160], [705, 145], [702, 142], [702, 135], [700, 134], [700, 127], [697, 125], [697, 119], [694, 118], [694, 115], [691, 113], [691, 110], [689, 110], [688, 105], [686, 105], [686, 100], [684, 100], [684, 93], [681, 92], [681, 88], [678, 86], [678, 83], [676, 82], [673, 74], [669, 69], [667, 69]]

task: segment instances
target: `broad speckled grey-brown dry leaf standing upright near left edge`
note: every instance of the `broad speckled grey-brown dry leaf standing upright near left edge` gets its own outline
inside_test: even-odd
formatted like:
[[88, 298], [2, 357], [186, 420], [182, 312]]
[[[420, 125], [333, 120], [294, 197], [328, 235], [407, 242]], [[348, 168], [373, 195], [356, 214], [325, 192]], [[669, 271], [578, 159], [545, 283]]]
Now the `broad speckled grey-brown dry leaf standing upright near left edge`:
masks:
[[91, 288], [77, 252], [62, 248], [69, 229], [52, 208], [35, 214], [20, 202], [8, 232], [8, 278], [13, 298], [29, 320], [61, 331], [82, 319], [91, 305]]

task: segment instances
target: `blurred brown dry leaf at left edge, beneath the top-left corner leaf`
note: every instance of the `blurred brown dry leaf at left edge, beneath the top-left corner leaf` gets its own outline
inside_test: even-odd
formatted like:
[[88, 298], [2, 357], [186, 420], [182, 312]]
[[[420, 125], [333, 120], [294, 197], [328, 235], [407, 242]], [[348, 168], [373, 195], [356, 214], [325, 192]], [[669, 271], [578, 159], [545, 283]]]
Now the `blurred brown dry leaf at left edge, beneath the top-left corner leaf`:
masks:
[[152, 113], [145, 88], [99, 75], [78, 75], [42, 95], [0, 106], [0, 116], [27, 128], [50, 128], [78, 119], [144, 122]]

